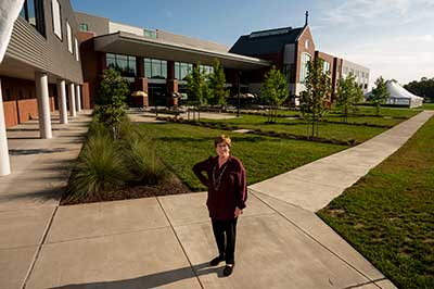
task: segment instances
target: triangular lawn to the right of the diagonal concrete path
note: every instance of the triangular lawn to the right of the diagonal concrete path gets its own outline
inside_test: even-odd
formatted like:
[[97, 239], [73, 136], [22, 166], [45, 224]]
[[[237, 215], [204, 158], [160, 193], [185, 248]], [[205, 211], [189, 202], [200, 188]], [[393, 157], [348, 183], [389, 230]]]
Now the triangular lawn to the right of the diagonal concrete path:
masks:
[[318, 215], [399, 288], [434, 288], [434, 118]]

